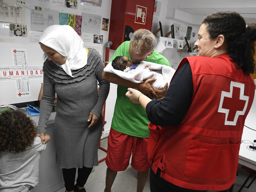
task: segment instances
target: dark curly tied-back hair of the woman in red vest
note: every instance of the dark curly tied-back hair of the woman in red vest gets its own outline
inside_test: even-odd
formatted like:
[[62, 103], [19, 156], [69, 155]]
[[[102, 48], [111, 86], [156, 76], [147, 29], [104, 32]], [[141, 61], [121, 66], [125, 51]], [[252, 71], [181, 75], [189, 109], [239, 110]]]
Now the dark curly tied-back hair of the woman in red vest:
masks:
[[254, 73], [256, 25], [246, 25], [240, 14], [230, 11], [210, 14], [202, 23], [206, 24], [211, 39], [224, 35], [228, 54], [237, 68], [244, 74]]

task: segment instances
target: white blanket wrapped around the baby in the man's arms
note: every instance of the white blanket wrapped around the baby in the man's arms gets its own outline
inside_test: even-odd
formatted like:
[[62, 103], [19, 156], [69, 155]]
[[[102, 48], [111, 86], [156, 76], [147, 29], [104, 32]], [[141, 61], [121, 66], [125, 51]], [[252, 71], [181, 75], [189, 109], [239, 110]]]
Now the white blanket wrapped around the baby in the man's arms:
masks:
[[[146, 67], [147, 64], [151, 66]], [[150, 69], [153, 69], [154, 72], [150, 71]], [[112, 62], [109, 62], [107, 67], [104, 68], [104, 72], [114, 73], [121, 78], [132, 81], [134, 83], [142, 83], [147, 79], [156, 78], [153, 86], [157, 89], [163, 89], [166, 83], [168, 83], [169, 86], [175, 70], [172, 67], [166, 65], [142, 61], [138, 67], [136, 67], [136, 69], [132, 69], [128, 72], [114, 69], [112, 67]]]

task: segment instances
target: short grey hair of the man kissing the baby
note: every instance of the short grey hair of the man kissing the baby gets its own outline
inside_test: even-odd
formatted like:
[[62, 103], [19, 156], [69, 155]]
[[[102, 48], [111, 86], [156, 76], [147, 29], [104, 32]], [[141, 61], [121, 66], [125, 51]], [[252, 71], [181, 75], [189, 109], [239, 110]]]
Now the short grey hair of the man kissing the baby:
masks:
[[138, 29], [130, 39], [135, 54], [151, 53], [156, 46], [156, 37], [147, 29]]

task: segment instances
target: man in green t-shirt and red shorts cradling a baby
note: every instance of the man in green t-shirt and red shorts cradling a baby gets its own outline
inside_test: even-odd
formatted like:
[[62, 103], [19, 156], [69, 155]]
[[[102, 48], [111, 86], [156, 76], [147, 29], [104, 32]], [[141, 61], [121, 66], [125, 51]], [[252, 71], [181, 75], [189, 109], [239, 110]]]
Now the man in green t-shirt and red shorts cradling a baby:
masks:
[[[126, 56], [132, 62], [142, 60], [170, 66], [168, 60], [154, 50], [156, 38], [152, 32], [140, 29], [133, 33], [129, 41], [123, 42], [115, 51], [112, 61], [116, 56]], [[150, 98], [162, 98], [168, 84], [162, 90], [152, 86], [156, 79], [148, 79], [143, 83], [133, 83], [108, 72], [102, 73], [102, 79], [118, 84], [117, 97], [111, 129], [108, 136], [107, 149], [107, 175], [104, 192], [110, 192], [118, 171], [124, 171], [129, 165], [137, 173], [137, 192], [142, 192], [147, 181], [149, 162], [147, 159], [147, 141], [149, 137], [147, 114], [138, 104], [133, 104], [125, 96], [128, 87], [137, 88]]]

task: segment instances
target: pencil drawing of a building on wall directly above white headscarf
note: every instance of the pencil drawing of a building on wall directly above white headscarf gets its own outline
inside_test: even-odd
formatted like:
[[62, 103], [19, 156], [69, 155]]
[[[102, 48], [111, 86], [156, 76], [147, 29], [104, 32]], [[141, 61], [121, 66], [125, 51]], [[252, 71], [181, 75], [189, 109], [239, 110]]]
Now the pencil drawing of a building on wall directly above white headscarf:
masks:
[[31, 9], [31, 30], [43, 31], [50, 25], [59, 24], [59, 12], [49, 10], [48, 12], [41, 12]]

